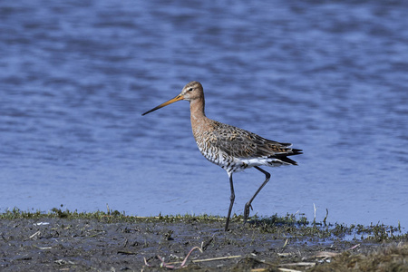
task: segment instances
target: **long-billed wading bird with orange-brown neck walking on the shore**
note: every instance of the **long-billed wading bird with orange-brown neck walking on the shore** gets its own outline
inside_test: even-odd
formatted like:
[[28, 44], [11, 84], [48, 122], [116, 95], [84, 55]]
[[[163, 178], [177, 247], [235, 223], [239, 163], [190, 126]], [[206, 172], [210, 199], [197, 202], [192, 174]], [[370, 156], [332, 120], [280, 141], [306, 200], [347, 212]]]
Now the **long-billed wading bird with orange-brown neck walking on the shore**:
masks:
[[227, 171], [230, 196], [225, 231], [229, 229], [229, 219], [235, 200], [232, 174], [251, 167], [265, 174], [265, 181], [245, 204], [243, 217], [245, 225], [249, 218], [249, 209], [253, 209], [252, 201], [270, 180], [270, 173], [261, 169], [260, 166], [297, 165], [295, 160], [287, 157], [302, 154], [303, 151], [293, 149], [291, 143], [267, 140], [253, 132], [209, 119], [204, 111], [203, 87], [201, 83], [196, 81], [187, 83], [176, 97], [141, 115], [146, 115], [181, 100], [189, 102], [191, 128], [199, 151], [207, 160]]

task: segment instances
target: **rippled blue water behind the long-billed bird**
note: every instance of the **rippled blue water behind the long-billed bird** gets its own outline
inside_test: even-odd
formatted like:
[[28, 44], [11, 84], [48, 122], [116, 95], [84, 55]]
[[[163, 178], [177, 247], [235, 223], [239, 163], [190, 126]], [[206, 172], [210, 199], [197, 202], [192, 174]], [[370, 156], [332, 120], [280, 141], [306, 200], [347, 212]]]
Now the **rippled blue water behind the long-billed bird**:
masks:
[[[0, 4], [0, 210], [226, 216], [228, 176], [199, 153], [188, 102], [289, 141], [261, 216], [408, 227], [408, 6], [398, 1], [40, 0]], [[234, 175], [236, 204], [262, 183]]]

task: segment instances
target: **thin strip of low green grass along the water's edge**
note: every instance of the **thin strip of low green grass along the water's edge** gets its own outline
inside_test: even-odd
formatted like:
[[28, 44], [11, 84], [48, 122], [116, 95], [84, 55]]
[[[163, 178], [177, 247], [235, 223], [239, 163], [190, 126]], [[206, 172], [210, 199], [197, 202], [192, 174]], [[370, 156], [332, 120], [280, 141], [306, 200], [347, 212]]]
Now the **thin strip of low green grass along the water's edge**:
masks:
[[[183, 223], [183, 224], [209, 224], [218, 222], [220, 228], [225, 223], [225, 218], [219, 216], [211, 216], [207, 214], [202, 215], [159, 215], [157, 217], [137, 217], [127, 216], [124, 212], [109, 209], [107, 212], [78, 212], [77, 210], [57, 209], [53, 208], [48, 212], [40, 210], [24, 211], [18, 208], [7, 209], [0, 213], [0, 219], [44, 219], [44, 218], [58, 218], [58, 219], [95, 219], [103, 223], [116, 222], [144, 222], [144, 223]], [[231, 219], [235, 224], [241, 224], [242, 216], [234, 216]], [[248, 222], [247, 228], [257, 229], [262, 233], [271, 233], [277, 237], [291, 238], [291, 240], [302, 238], [337, 238], [345, 240], [365, 240], [374, 242], [383, 241], [401, 241], [408, 238], [408, 233], [403, 234], [401, 227], [386, 226], [384, 224], [364, 225], [350, 225], [335, 223], [327, 224], [316, 222], [311, 223], [303, 215], [287, 214], [284, 217], [278, 217], [277, 214], [271, 217], [259, 218], [254, 216]]]

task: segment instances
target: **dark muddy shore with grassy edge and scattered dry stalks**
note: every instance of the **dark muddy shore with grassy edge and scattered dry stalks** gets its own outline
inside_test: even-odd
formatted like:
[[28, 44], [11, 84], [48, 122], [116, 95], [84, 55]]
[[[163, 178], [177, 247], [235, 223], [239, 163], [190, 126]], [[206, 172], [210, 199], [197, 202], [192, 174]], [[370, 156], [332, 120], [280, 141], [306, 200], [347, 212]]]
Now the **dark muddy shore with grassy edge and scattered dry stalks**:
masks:
[[288, 215], [245, 227], [235, 217], [225, 232], [225, 219], [205, 215], [60, 209], [7, 211], [0, 219], [1, 271], [408, 271], [408, 235], [389, 226], [327, 226]]

